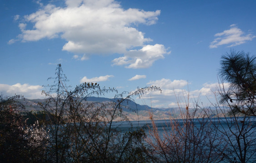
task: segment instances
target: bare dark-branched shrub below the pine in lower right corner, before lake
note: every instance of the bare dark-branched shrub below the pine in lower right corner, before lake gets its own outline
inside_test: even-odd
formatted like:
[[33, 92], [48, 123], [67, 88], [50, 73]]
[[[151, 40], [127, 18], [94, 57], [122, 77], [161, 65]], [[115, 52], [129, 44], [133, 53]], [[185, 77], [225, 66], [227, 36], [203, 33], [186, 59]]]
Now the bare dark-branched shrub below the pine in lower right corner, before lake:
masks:
[[[230, 115], [225, 107], [213, 104], [211, 109], [204, 108], [206, 115], [211, 120], [212, 126], [221, 135], [224, 141], [220, 146], [225, 147], [222, 151], [223, 158], [229, 163], [249, 163], [256, 159], [256, 121], [253, 117], [244, 115]], [[207, 111], [206, 111], [207, 110]], [[216, 118], [211, 119], [212, 114]], [[222, 116], [219, 116], [222, 115]]]

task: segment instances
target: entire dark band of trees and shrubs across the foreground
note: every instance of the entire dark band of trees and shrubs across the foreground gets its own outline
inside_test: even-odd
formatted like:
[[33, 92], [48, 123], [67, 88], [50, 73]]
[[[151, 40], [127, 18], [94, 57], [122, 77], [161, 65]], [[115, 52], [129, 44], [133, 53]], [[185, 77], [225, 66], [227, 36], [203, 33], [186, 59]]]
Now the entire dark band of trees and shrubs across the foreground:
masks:
[[[22, 96], [0, 95], [0, 162], [3, 163], [253, 163], [256, 160], [256, 57], [231, 51], [221, 58], [220, 83], [211, 107], [178, 100], [182, 120], [166, 120], [163, 132], [152, 125], [122, 132], [124, 108], [134, 96], [161, 91], [155, 86], [118, 94], [114, 88], [83, 83], [66, 86], [61, 65], [40, 112], [21, 115]], [[229, 86], [224, 85], [224, 81]], [[86, 103], [90, 96], [116, 92], [109, 102]], [[229, 109], [226, 109], [228, 106]], [[183, 110], [182, 108], [186, 108]], [[138, 110], [132, 110], [137, 112]], [[212, 116], [214, 115], [214, 116]], [[182, 122], [182, 123], [181, 123]]]

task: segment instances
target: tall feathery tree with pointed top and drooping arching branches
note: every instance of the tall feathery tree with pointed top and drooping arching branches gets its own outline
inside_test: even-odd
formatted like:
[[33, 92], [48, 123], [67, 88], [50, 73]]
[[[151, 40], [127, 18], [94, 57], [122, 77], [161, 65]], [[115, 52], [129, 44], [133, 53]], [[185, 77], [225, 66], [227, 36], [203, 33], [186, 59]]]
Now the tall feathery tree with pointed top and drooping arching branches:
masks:
[[[147, 160], [141, 139], [144, 130], [131, 129], [124, 134], [116, 121], [128, 120], [123, 114], [125, 103], [132, 96], [141, 96], [157, 87], [138, 88], [134, 92], [117, 94], [110, 102], [90, 102], [90, 96], [101, 96], [116, 92], [114, 88], [101, 88], [97, 83], [82, 83], [71, 89], [65, 85], [67, 79], [61, 65], [56, 68], [54, 84], [43, 91], [47, 101], [39, 105], [48, 114], [45, 130], [49, 130], [45, 142], [45, 161], [71, 162], [144, 162]], [[134, 110], [136, 111], [136, 110]], [[117, 123], [118, 124], [118, 123]], [[134, 159], [138, 153], [140, 157]], [[130, 159], [130, 160], [129, 160]]]

